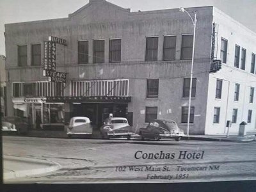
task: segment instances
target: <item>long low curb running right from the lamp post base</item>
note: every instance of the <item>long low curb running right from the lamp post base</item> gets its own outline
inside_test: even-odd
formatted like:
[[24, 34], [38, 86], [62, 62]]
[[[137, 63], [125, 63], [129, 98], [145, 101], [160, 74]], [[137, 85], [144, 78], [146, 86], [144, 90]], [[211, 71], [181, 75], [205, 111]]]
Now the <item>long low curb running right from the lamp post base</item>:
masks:
[[191, 137], [191, 136], [183, 136], [182, 140], [198, 140], [198, 141], [225, 141], [225, 142], [250, 142], [255, 141], [255, 138], [202, 138], [202, 137]]

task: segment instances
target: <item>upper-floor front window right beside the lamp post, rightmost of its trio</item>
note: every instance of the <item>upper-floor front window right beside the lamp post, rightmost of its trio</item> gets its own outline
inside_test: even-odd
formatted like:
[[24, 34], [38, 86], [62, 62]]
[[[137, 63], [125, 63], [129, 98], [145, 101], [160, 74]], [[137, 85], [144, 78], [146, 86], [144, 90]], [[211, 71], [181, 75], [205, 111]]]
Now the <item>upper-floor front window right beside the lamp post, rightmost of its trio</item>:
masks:
[[191, 60], [193, 54], [193, 35], [182, 35], [180, 60]]

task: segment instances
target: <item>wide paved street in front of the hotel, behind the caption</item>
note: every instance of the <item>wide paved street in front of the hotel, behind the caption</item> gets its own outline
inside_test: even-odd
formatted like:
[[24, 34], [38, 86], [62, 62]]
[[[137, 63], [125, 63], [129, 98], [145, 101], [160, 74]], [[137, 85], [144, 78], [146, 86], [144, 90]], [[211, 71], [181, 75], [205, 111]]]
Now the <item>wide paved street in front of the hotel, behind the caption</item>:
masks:
[[[194, 182], [256, 179], [255, 141], [177, 142], [3, 136], [3, 154], [45, 159], [61, 166], [55, 172], [10, 179], [6, 180], [6, 183]], [[148, 159], [150, 154], [153, 159]], [[164, 155], [157, 159], [160, 154]]]

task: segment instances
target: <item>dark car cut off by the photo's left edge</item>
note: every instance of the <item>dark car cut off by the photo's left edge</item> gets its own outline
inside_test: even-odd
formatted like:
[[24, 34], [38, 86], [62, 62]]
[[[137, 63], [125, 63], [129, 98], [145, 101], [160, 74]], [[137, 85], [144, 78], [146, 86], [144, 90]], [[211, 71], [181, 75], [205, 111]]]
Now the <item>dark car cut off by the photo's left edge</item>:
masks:
[[28, 133], [26, 118], [20, 116], [5, 116], [2, 121], [3, 132], [16, 132], [17, 134]]

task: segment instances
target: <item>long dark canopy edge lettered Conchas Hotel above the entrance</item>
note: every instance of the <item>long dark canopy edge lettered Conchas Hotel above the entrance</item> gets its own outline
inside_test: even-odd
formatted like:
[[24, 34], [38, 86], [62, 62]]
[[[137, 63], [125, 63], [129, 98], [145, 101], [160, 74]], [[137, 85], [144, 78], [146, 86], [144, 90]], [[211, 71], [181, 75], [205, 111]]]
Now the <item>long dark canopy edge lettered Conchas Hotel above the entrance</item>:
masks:
[[91, 97], [46, 97], [47, 102], [131, 102], [131, 97], [91, 96]]

